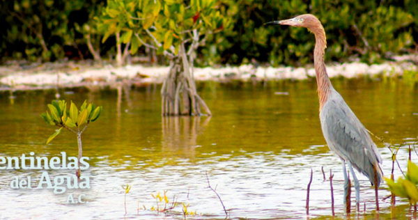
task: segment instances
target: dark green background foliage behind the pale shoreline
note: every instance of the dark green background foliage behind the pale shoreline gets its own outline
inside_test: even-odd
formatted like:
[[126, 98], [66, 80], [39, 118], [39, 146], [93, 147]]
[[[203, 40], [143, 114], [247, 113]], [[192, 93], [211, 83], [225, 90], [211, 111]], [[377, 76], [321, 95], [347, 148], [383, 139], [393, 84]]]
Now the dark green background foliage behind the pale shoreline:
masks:
[[[139, 31], [139, 25], [146, 26], [157, 15], [166, 15], [164, 6], [177, 1], [132, 0], [124, 1], [123, 6], [121, 2], [1, 0], [2, 61], [10, 58], [29, 61], [83, 59], [93, 58], [94, 54], [96, 60], [109, 56], [117, 59], [116, 54], [127, 56], [121, 52], [125, 47], [134, 55], [150, 53], [137, 39], [130, 42], [132, 33], [129, 30]], [[150, 3], [158, 7], [146, 8]], [[190, 5], [189, 1], [183, 3]], [[253, 59], [272, 65], [310, 63], [314, 36], [306, 29], [263, 26], [265, 22], [302, 13], [317, 15], [323, 22], [327, 33], [328, 61], [358, 57], [374, 63], [393, 54], [414, 52], [418, 47], [418, 1], [415, 0], [222, 0], [217, 1], [216, 8], [220, 15], [231, 19], [231, 28], [223, 28], [208, 36], [205, 47], [201, 47], [197, 55], [198, 65], [240, 64]], [[137, 19], [127, 19], [130, 13]], [[190, 22], [178, 17], [180, 14], [173, 15], [176, 29], [183, 29]], [[151, 18], [148, 15], [152, 15]], [[123, 25], [109, 34], [109, 28], [114, 28], [108, 23], [109, 18], [117, 17], [121, 18], [118, 24]], [[215, 20], [206, 22], [219, 24]], [[169, 29], [173, 27], [169, 22], [163, 25]], [[120, 35], [116, 35], [118, 31]], [[178, 40], [177, 35], [169, 33], [171, 31], [165, 32], [161, 42]]]

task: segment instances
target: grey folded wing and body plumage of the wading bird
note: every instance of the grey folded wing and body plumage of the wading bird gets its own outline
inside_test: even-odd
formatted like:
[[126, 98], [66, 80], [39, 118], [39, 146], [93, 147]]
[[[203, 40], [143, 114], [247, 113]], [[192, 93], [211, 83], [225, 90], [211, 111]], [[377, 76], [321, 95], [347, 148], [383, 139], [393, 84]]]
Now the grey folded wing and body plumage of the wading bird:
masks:
[[[369, 133], [336, 91], [320, 112], [320, 122], [327, 145], [339, 157], [374, 182], [374, 168], [381, 173], [380, 154]], [[382, 176], [379, 174], [379, 182]]]

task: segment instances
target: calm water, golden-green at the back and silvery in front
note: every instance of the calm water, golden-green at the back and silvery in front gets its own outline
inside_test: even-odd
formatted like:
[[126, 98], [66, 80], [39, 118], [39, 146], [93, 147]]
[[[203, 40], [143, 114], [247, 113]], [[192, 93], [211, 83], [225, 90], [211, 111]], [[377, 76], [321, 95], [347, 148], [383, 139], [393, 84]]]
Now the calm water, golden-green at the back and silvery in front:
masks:
[[[334, 87], [371, 132], [387, 143], [414, 143], [418, 136], [417, 88], [396, 82], [364, 79], [336, 80]], [[334, 176], [336, 213], [343, 214], [343, 177], [340, 160], [325, 146], [318, 119], [315, 81], [251, 84], [200, 84], [201, 96], [213, 116], [200, 118], [160, 116], [159, 88], [136, 88], [118, 97], [116, 91], [62, 93], [65, 100], [83, 100], [103, 106], [102, 116], [83, 135], [84, 156], [90, 168], [84, 171], [91, 189], [71, 189], [56, 195], [51, 189], [10, 189], [15, 176], [31, 176], [38, 182], [42, 171], [0, 171], [0, 219], [181, 219], [179, 205], [167, 215], [153, 212], [151, 194], [167, 190], [172, 201], [189, 204], [190, 217], [223, 218], [212, 187], [221, 196], [231, 218], [305, 218], [306, 188], [312, 168], [311, 215], [331, 214], [330, 182], [323, 181], [321, 167]], [[278, 95], [286, 92], [288, 95]], [[65, 151], [77, 155], [77, 142], [63, 132], [45, 145], [54, 128], [40, 118], [54, 91], [0, 95], [0, 156], [54, 157]], [[376, 141], [389, 175], [391, 154]], [[407, 151], [398, 155], [405, 168]], [[417, 155], [412, 160], [417, 161]], [[51, 177], [74, 171], [50, 170]], [[396, 170], [396, 176], [401, 175]], [[358, 176], [358, 175], [357, 175]], [[373, 189], [364, 176], [362, 210], [374, 209]], [[132, 184], [127, 194], [125, 215], [122, 184]], [[354, 189], [353, 189], [354, 190]], [[83, 204], [68, 204], [68, 196], [85, 194]], [[380, 190], [380, 198], [389, 195]], [[354, 196], [354, 195], [353, 195]], [[405, 204], [405, 203], [403, 203]], [[354, 202], [353, 202], [354, 205]], [[144, 210], [144, 206], [146, 210]], [[139, 207], [139, 208], [138, 208]], [[389, 199], [381, 201], [382, 213], [389, 213]], [[403, 205], [401, 216], [408, 215]], [[373, 216], [373, 215], [372, 215]]]

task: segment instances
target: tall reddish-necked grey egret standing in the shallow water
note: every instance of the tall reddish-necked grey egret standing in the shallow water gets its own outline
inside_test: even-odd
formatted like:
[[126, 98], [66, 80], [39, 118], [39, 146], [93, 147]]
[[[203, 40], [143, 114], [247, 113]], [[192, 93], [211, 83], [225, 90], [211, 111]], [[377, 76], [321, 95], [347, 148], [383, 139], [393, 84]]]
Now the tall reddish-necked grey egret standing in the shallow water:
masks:
[[[330, 150], [341, 158], [344, 174], [344, 203], [348, 194], [346, 163], [353, 174], [357, 209], [359, 207], [360, 185], [353, 171], [354, 168], [369, 178], [376, 189], [382, 182], [382, 158], [373, 143], [367, 129], [360, 123], [343, 97], [332, 87], [325, 68], [324, 54], [327, 47], [325, 30], [314, 15], [299, 15], [292, 19], [268, 22], [265, 25], [290, 25], [309, 29], [315, 35], [314, 65], [319, 96], [319, 118], [325, 141]], [[377, 207], [378, 208], [378, 207]]]

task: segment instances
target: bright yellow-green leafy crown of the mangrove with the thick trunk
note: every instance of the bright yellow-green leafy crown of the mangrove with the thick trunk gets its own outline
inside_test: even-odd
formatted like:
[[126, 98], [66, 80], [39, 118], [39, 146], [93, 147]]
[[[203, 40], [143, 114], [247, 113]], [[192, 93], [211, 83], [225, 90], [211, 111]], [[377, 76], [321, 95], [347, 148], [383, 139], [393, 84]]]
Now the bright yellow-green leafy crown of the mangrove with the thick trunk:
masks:
[[231, 26], [229, 19], [217, 8], [219, 3], [213, 0], [187, 3], [180, 0], [109, 0], [98, 22], [98, 30], [104, 33], [103, 41], [116, 36], [118, 64], [123, 63], [128, 49], [135, 54], [141, 46], [155, 49], [171, 59], [178, 56], [180, 47], [185, 47], [190, 56], [210, 33]]

